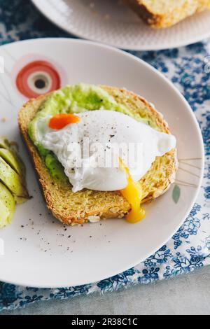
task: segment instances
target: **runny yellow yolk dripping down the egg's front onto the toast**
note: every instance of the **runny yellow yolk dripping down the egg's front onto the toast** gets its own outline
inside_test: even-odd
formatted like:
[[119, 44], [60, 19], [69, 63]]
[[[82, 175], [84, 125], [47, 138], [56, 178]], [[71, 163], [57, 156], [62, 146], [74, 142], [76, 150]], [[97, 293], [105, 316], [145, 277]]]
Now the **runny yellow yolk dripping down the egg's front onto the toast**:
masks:
[[137, 223], [145, 217], [145, 210], [141, 208], [142, 200], [142, 188], [139, 182], [134, 182], [130, 174], [129, 169], [123, 163], [123, 160], [119, 158], [120, 168], [123, 169], [127, 176], [127, 187], [120, 190], [123, 197], [131, 205], [131, 211], [127, 214], [127, 221], [129, 223]]

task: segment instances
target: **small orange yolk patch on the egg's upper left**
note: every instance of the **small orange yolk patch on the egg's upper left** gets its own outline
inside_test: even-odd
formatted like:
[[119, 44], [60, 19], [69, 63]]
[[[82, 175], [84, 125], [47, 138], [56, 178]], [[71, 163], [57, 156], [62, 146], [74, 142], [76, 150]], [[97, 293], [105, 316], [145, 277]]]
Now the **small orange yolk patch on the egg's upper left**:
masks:
[[78, 123], [80, 118], [72, 113], [60, 113], [56, 116], [52, 116], [49, 122], [51, 129], [60, 130], [70, 123]]

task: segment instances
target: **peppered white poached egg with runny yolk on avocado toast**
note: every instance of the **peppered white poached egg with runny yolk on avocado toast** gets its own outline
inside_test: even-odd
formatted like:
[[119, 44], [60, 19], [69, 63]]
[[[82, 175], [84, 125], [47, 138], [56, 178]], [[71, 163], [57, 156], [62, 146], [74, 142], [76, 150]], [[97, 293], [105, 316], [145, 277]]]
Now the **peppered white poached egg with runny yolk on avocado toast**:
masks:
[[132, 206], [127, 220], [144, 218], [139, 180], [156, 157], [176, 147], [173, 135], [111, 110], [58, 115], [40, 125], [39, 143], [56, 155], [74, 193], [120, 190]]

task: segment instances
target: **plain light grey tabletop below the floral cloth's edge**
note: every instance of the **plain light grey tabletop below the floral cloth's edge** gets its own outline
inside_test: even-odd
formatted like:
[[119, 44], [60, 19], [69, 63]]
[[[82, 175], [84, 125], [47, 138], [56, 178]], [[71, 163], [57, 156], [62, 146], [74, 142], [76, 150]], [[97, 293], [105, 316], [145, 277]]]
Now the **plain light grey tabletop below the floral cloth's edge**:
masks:
[[71, 300], [38, 302], [8, 314], [140, 315], [210, 314], [210, 266], [144, 286], [105, 295], [74, 297]]

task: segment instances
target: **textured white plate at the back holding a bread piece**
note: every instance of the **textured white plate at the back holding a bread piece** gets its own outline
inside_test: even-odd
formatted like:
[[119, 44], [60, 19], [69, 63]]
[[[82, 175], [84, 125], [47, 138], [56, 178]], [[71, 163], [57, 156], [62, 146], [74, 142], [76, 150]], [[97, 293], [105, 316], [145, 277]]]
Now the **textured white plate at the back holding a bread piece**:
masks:
[[146, 26], [119, 0], [32, 0], [52, 22], [80, 38], [130, 50], [180, 47], [210, 36], [210, 11], [169, 29]]

